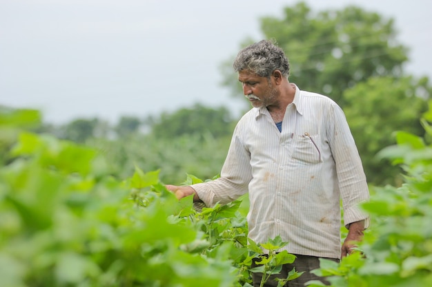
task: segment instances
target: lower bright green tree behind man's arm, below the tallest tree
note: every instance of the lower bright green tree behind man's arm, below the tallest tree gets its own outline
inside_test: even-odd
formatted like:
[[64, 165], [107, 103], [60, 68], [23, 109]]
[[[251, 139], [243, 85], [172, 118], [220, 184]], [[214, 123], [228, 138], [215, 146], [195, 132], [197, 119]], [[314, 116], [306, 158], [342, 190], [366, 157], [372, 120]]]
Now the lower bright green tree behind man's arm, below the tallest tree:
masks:
[[[400, 167], [375, 155], [395, 143], [394, 131], [423, 136], [419, 118], [427, 109], [432, 88], [427, 78], [369, 78], [346, 89], [344, 108], [359, 149], [368, 181], [373, 184], [402, 182]], [[398, 176], [399, 175], [399, 176]]]

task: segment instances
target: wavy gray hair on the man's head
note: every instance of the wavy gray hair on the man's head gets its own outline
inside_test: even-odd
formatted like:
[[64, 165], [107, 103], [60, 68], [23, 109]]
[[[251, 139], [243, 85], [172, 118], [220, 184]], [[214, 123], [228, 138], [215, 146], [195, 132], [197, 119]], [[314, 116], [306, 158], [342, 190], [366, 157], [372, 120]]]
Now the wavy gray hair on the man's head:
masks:
[[267, 78], [275, 70], [279, 70], [286, 78], [289, 76], [289, 63], [284, 50], [271, 40], [262, 40], [240, 50], [233, 67], [235, 72], [248, 70]]

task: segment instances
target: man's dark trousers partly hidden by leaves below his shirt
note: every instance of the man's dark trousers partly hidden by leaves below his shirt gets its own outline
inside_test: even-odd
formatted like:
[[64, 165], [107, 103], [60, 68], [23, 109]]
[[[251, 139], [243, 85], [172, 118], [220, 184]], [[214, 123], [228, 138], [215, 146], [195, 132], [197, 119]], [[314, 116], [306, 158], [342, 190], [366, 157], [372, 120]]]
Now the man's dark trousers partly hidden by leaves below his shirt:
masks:
[[[284, 264], [282, 266], [282, 270], [279, 274], [271, 275], [271, 277], [266, 281], [264, 287], [276, 287], [277, 281], [275, 278], [286, 279], [288, 277], [288, 273], [295, 268], [297, 272], [304, 272], [297, 279], [288, 281], [284, 287], [304, 287], [307, 281], [311, 280], [320, 280], [322, 283], [326, 285], [330, 285], [328, 281], [326, 281], [323, 277], [318, 277], [317, 275], [311, 273], [311, 270], [320, 268], [320, 259], [315, 256], [306, 256], [306, 255], [297, 255], [295, 261], [292, 264]], [[335, 262], [340, 262], [340, 259], [336, 258], [326, 258], [333, 260]], [[255, 262], [259, 262], [261, 259], [254, 259], [252, 267], [257, 267], [259, 265], [255, 264]], [[253, 273], [253, 287], [259, 287], [261, 284], [262, 273]]]

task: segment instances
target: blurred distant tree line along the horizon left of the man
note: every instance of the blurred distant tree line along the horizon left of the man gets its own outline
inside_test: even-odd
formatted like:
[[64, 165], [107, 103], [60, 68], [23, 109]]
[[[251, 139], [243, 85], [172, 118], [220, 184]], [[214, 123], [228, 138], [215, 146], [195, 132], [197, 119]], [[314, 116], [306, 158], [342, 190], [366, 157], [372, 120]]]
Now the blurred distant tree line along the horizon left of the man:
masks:
[[195, 104], [168, 113], [139, 118], [121, 116], [110, 125], [101, 118], [77, 118], [64, 125], [46, 123], [39, 131], [55, 134], [58, 138], [85, 143], [93, 138], [128, 138], [135, 134], [153, 134], [156, 138], [210, 133], [215, 137], [228, 136], [232, 132], [233, 116], [226, 107], [205, 107]]

